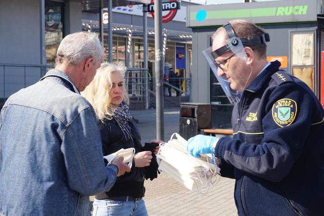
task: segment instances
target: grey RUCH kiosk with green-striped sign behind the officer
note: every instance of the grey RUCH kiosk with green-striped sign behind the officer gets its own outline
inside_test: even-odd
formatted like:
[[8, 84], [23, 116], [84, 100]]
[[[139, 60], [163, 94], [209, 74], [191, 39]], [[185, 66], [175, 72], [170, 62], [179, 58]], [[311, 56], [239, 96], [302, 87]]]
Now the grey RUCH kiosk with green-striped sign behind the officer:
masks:
[[[212, 105], [212, 128], [231, 128], [229, 103], [202, 51], [211, 45], [216, 29], [234, 19], [254, 22], [270, 35], [268, 61], [303, 80], [324, 103], [324, 16], [321, 0], [283, 0], [218, 5], [187, 9], [192, 28], [192, 101]], [[207, 84], [207, 85], [206, 85]]]

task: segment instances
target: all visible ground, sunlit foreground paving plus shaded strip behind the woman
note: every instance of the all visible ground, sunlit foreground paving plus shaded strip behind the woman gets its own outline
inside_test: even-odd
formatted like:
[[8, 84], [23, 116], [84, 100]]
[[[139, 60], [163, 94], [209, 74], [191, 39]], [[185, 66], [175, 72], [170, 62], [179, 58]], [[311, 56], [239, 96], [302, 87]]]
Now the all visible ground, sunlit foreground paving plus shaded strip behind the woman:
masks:
[[[133, 110], [139, 120], [142, 141], [156, 136], [156, 110]], [[164, 109], [164, 134], [167, 141], [172, 133], [179, 132], [179, 109]], [[220, 178], [208, 191], [199, 194], [189, 191], [165, 173], [153, 181], [145, 180], [145, 205], [149, 216], [237, 216], [234, 202], [234, 180]], [[93, 201], [93, 196], [90, 200]]]

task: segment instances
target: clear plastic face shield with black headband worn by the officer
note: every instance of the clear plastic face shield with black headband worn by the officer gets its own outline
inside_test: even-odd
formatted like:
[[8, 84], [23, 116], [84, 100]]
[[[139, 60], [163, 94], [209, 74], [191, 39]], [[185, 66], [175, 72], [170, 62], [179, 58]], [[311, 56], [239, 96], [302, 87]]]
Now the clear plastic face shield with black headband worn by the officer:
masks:
[[[223, 25], [223, 27], [226, 30], [226, 33], [229, 38], [225, 41], [226, 42], [225, 45], [223, 45], [222, 47], [220, 47], [214, 51], [212, 50], [212, 47], [208, 47], [207, 49], [203, 50], [203, 56], [205, 57], [210, 68], [212, 69], [215, 77], [219, 81], [219, 84], [222, 86], [224, 93], [226, 94], [227, 98], [229, 99], [229, 102], [231, 104], [236, 104], [236, 103], [240, 102], [243, 90], [239, 91], [239, 90], [234, 90], [233, 88], [231, 88], [231, 83], [229, 82], [228, 78], [226, 78], [226, 75], [223, 73], [224, 67], [222, 65], [226, 65], [227, 64], [226, 62], [228, 62], [228, 64], [227, 64], [227, 66], [228, 66], [230, 64], [229, 60], [233, 56], [237, 56], [240, 59], [242, 59], [243, 65], [245, 62], [245, 65], [247, 65], [246, 68], [250, 68], [250, 69], [246, 69], [247, 71], [245, 71], [244, 73], [242, 71], [234, 71], [236, 77], [235, 78], [231, 77], [231, 79], [236, 79], [235, 82], [236, 82], [236, 84], [239, 85], [240, 89], [244, 89], [246, 87], [246, 83], [247, 83], [249, 77], [252, 74], [252, 67], [248, 63], [248, 58], [247, 58], [245, 50], [244, 50], [244, 45], [248, 46], [248, 45], [261, 44], [261, 43], [265, 44], [266, 42], [268, 42], [270, 40], [269, 40], [269, 35], [267, 33], [263, 34], [262, 36], [260, 36], [258, 38], [254, 38], [254, 39], [250, 39], [250, 40], [240, 39], [240, 38], [236, 37], [235, 32], [234, 32], [230, 23]], [[225, 54], [227, 52], [230, 52], [231, 55], [228, 55], [229, 57], [227, 57], [221, 63], [217, 63], [216, 58], [222, 56], [223, 54]], [[248, 71], [248, 70], [250, 70], [250, 71]], [[223, 75], [220, 75], [222, 73], [223, 73]], [[231, 80], [231, 82], [233, 83], [234, 81]]]

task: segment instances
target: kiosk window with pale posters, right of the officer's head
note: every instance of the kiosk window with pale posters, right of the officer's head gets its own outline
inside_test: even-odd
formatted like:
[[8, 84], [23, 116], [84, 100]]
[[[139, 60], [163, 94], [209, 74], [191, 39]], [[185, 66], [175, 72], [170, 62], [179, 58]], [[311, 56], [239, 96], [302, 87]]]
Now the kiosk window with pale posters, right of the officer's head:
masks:
[[314, 32], [291, 33], [291, 73], [314, 91]]

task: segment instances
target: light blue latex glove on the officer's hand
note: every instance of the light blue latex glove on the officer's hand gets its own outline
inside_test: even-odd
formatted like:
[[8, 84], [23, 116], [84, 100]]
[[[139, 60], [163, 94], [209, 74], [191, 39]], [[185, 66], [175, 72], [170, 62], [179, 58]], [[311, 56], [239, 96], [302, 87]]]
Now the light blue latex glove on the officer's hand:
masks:
[[213, 152], [213, 143], [220, 138], [217, 136], [207, 136], [199, 134], [188, 139], [187, 151], [194, 157], [200, 158], [201, 154], [209, 154]]

